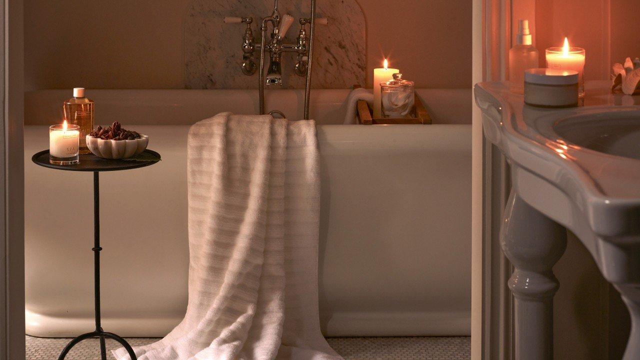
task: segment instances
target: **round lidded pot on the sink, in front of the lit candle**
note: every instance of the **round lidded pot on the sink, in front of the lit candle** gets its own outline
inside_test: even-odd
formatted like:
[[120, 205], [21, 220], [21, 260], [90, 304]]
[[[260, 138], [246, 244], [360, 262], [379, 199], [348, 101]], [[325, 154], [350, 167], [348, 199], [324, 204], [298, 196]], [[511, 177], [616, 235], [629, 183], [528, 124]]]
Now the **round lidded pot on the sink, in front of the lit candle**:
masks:
[[578, 106], [578, 72], [544, 68], [525, 70], [524, 103], [540, 108]]

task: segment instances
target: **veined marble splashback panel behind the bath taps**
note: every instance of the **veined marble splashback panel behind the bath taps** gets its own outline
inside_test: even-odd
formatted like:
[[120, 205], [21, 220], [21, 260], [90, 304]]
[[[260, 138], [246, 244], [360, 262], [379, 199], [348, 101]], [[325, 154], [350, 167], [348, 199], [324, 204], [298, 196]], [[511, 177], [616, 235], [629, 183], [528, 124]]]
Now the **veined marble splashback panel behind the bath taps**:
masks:
[[[293, 44], [300, 17], [308, 17], [309, 0], [280, 0], [278, 10], [295, 18], [285, 37]], [[260, 44], [259, 23], [271, 15], [273, 0], [193, 0], [185, 21], [186, 87], [193, 89], [255, 89], [258, 73], [246, 76], [241, 45], [245, 24], [225, 24], [225, 16], [253, 17], [255, 43]], [[317, 0], [312, 87], [351, 88], [365, 84], [366, 29], [362, 9], [355, 0]], [[308, 26], [307, 26], [308, 28]], [[269, 35], [267, 35], [269, 36]], [[259, 63], [260, 52], [254, 60]], [[305, 78], [294, 73], [295, 53], [282, 55], [282, 88], [304, 88]], [[265, 67], [268, 66], [268, 60]]]

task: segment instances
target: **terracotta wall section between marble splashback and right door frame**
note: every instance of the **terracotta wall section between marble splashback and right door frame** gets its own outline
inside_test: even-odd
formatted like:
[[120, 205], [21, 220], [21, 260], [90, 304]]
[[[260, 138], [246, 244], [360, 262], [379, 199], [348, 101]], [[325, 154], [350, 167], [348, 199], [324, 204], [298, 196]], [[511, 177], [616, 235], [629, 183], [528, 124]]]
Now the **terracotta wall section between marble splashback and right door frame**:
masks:
[[367, 21], [369, 74], [388, 56], [416, 86], [471, 86], [471, 0], [357, 1]]

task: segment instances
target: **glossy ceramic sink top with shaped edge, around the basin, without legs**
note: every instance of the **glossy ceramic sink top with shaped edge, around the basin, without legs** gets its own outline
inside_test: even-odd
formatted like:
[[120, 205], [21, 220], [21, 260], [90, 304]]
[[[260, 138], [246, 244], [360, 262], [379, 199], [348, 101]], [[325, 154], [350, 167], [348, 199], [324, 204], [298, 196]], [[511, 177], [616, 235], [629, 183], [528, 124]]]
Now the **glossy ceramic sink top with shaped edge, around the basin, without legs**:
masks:
[[[618, 156], [572, 143], [557, 131], [566, 120], [627, 119], [640, 125], [640, 96], [612, 94], [609, 81], [588, 81], [583, 106], [535, 108], [523, 95], [509, 92], [506, 82], [475, 86], [476, 104], [483, 110], [484, 135], [500, 147], [509, 162], [526, 169], [560, 190], [587, 215], [591, 227], [613, 231], [640, 217], [640, 154]], [[582, 120], [584, 122], [584, 120]], [[594, 123], [591, 121], [591, 123]], [[571, 128], [569, 129], [571, 131]], [[565, 135], [567, 131], [563, 132]], [[592, 131], [593, 133], [593, 131]], [[635, 147], [633, 149], [636, 149]], [[627, 225], [604, 224], [617, 218]], [[599, 223], [599, 224], [598, 224]]]

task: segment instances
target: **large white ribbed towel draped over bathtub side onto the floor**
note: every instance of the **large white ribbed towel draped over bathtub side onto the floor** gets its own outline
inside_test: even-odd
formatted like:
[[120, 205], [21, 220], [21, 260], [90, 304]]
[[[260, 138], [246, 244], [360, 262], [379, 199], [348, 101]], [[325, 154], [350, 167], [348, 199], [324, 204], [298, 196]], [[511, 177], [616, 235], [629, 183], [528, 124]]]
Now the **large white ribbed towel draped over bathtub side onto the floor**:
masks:
[[[140, 360], [339, 360], [319, 326], [313, 120], [221, 113], [188, 142], [189, 302]], [[113, 352], [129, 359], [124, 348]]]

